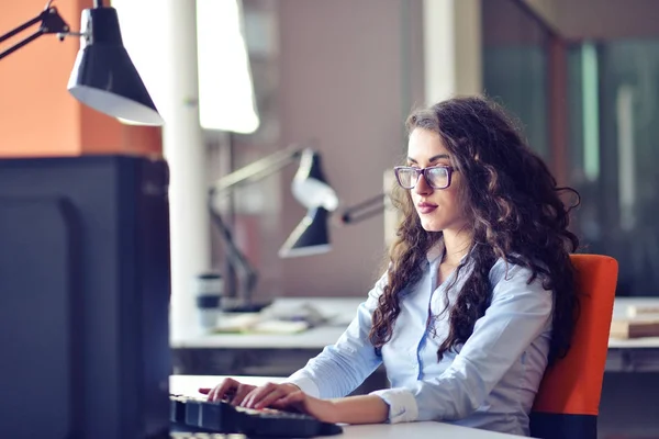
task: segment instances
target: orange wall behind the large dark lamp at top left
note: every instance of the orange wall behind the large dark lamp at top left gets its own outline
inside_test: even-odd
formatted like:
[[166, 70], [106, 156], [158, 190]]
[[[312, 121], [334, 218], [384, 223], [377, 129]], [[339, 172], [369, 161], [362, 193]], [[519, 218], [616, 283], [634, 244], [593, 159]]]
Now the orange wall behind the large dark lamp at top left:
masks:
[[[107, 2], [108, 3], [108, 2]], [[45, 0], [0, 0], [0, 34], [37, 15]], [[71, 30], [92, 0], [54, 2]], [[19, 42], [37, 26], [0, 44]], [[66, 85], [79, 38], [37, 40], [0, 59], [0, 156], [59, 156], [97, 153], [161, 154], [158, 127], [130, 126], [76, 101]]]

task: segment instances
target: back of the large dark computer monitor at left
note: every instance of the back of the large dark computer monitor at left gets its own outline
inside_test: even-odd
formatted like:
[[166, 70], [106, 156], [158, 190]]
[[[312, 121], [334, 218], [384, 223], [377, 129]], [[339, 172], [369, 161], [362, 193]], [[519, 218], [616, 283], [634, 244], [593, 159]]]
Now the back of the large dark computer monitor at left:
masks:
[[0, 431], [168, 437], [167, 166], [0, 160]]

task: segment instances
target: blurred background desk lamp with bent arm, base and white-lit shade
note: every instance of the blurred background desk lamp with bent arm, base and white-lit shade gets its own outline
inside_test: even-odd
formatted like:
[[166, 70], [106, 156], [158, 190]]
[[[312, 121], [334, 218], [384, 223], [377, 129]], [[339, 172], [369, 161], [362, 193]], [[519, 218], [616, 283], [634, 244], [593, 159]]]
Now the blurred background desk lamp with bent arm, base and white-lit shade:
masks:
[[[267, 304], [257, 304], [252, 301], [252, 295], [258, 280], [258, 272], [236, 246], [231, 228], [226, 225], [216, 207], [217, 198], [222, 193], [226, 193], [239, 185], [248, 184], [272, 175], [298, 160], [300, 161], [300, 167], [291, 184], [293, 196], [303, 206], [312, 211], [316, 209], [323, 211], [335, 210], [338, 205], [338, 198], [321, 170], [320, 155], [311, 148], [298, 145], [292, 145], [222, 177], [209, 190], [211, 218], [222, 236], [228, 263], [235, 270], [237, 278], [234, 299], [237, 299], [238, 303], [230, 305], [225, 311], [258, 312]], [[305, 219], [302, 222], [304, 223]], [[298, 246], [300, 248], [299, 251], [316, 254], [320, 252], [319, 249], [324, 249], [324, 251], [330, 250], [326, 219], [327, 215], [314, 217], [314, 229], [324, 229], [325, 234], [324, 236], [322, 234], [314, 234], [314, 236], [311, 236], [304, 243], [300, 243]], [[310, 249], [313, 250], [310, 251]]]

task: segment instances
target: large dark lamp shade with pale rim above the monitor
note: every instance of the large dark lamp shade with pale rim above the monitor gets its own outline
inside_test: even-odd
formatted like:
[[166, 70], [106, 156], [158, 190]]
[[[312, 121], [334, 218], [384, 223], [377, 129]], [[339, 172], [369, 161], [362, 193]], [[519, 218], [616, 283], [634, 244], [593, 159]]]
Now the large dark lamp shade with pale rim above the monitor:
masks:
[[123, 46], [114, 8], [82, 11], [82, 37], [68, 90], [102, 113], [142, 125], [161, 125], [139, 74]]

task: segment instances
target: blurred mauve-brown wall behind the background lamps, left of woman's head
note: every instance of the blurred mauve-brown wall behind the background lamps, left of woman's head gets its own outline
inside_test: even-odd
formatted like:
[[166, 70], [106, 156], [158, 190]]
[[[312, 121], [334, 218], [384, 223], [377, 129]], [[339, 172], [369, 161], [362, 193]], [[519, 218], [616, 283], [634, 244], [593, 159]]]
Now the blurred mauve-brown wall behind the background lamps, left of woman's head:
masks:
[[[345, 205], [382, 191], [423, 101], [420, 0], [284, 0], [279, 7], [281, 144], [319, 140]], [[404, 9], [409, 8], [409, 9]], [[402, 45], [405, 45], [403, 49]], [[304, 214], [287, 170], [282, 229]], [[283, 260], [286, 295], [365, 295], [384, 251], [383, 217], [334, 227], [330, 254]]]

